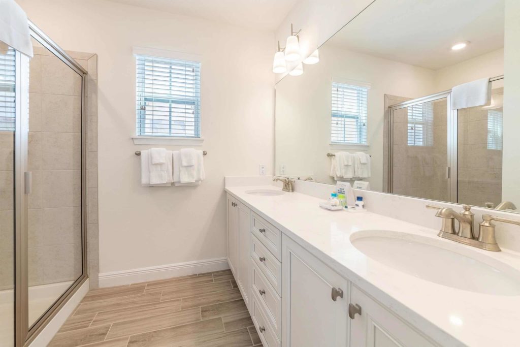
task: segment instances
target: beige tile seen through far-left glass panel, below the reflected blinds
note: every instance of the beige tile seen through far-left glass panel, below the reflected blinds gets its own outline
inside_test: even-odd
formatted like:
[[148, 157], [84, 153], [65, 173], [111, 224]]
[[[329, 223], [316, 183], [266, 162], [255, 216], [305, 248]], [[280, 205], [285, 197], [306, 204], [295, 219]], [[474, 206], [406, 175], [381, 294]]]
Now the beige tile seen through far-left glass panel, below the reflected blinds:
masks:
[[14, 132], [0, 132], [0, 290], [14, 287]]

